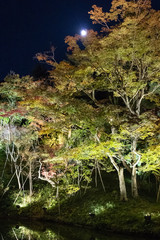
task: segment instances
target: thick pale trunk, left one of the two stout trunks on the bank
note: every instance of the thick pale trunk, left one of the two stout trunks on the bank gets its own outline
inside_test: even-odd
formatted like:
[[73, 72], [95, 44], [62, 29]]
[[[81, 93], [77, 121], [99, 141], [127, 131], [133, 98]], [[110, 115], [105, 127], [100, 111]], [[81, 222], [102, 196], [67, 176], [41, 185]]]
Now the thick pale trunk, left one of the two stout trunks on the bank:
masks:
[[124, 179], [124, 168], [120, 167], [118, 171], [118, 178], [119, 178], [119, 188], [120, 188], [120, 200], [127, 201], [127, 191]]

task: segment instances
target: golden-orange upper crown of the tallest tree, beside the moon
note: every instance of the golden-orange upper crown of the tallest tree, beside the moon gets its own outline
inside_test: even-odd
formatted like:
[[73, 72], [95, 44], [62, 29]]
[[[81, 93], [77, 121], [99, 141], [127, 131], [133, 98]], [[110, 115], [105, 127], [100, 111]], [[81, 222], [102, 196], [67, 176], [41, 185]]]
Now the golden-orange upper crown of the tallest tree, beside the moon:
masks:
[[[131, 114], [139, 116], [144, 99], [156, 95], [160, 87], [159, 48], [155, 48], [159, 38], [152, 28], [158, 13], [150, 5], [150, 1], [113, 1], [105, 21], [120, 18], [121, 23], [106, 36], [99, 37], [91, 30], [86, 38], [66, 37], [72, 64], [61, 62], [51, 72], [58, 88], [83, 91], [93, 101], [96, 91], [111, 91]], [[97, 14], [104, 18], [101, 11], [91, 13], [94, 21], [98, 21]], [[81, 50], [79, 41], [85, 49]]]

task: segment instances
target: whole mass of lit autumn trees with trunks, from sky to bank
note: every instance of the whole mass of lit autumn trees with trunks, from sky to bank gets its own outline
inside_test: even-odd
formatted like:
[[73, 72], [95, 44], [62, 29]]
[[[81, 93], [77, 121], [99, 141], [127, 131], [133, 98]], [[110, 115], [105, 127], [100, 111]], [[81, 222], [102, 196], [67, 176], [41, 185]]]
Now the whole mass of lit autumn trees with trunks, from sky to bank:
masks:
[[[0, 86], [1, 142], [20, 190], [20, 176], [29, 179], [30, 195], [33, 168], [56, 196], [59, 187], [88, 185], [96, 171], [104, 188], [101, 170], [115, 170], [121, 200], [128, 199], [125, 171], [135, 198], [137, 175], [159, 175], [160, 11], [150, 0], [112, 0], [108, 12], [92, 8], [101, 31], [67, 36], [67, 60], [56, 62], [54, 48], [37, 54], [51, 66], [47, 80], [9, 75]], [[19, 140], [6, 142], [12, 126]]]

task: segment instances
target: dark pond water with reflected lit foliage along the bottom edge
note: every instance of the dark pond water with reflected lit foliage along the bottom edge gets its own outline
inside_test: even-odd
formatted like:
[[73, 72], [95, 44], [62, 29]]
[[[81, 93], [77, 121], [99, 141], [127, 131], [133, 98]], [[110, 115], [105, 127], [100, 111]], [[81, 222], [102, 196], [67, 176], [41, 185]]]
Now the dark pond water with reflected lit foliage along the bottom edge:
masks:
[[145, 240], [113, 233], [101, 234], [79, 227], [55, 225], [53, 223], [8, 223], [0, 222], [1, 240]]

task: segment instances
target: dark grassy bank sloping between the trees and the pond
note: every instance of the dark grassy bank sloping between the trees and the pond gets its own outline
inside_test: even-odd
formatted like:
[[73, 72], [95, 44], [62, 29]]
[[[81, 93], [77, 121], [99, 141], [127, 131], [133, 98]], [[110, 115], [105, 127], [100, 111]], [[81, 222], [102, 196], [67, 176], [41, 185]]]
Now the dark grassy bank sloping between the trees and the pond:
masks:
[[16, 206], [11, 211], [8, 209], [6, 217], [74, 225], [100, 232], [160, 237], [159, 203], [145, 198], [120, 202], [117, 196], [115, 192], [107, 194], [92, 189], [83, 196], [62, 201], [60, 206], [47, 208], [40, 202], [32, 202], [26, 207]]

